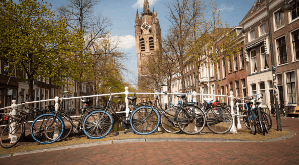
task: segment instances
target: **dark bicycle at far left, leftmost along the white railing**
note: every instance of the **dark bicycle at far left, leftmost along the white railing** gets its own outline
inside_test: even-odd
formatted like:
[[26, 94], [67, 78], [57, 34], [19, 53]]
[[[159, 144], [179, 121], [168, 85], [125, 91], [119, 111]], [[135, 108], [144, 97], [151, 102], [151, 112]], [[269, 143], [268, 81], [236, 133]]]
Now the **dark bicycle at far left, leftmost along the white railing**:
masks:
[[[0, 135], [0, 145], [3, 148], [11, 148], [15, 146], [18, 141], [25, 136], [26, 126], [24, 124], [27, 123], [30, 127], [31, 124], [27, 121], [30, 114], [36, 113], [37, 108], [28, 108], [25, 107], [25, 102], [21, 103], [16, 109], [16, 115], [9, 116], [10, 122], [4, 127]], [[34, 112], [29, 112], [29, 110], [33, 110]]]

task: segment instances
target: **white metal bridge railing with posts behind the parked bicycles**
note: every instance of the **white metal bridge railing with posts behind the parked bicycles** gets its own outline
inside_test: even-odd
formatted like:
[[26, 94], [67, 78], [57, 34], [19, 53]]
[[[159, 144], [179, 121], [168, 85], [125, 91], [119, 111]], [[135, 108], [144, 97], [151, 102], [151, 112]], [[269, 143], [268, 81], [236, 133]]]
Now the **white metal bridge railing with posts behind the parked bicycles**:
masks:
[[[140, 93], [140, 92], [136, 92], [136, 93], [133, 93], [133, 92], [129, 92], [128, 91], [128, 87], [125, 87], [125, 92], [119, 92], [119, 93], [112, 93], [112, 95], [120, 95], [120, 94], [125, 94], [125, 103], [126, 103], [126, 116], [127, 118], [129, 117], [129, 111], [130, 111], [130, 108], [129, 108], [129, 99], [128, 99], [128, 96], [129, 94], [153, 94], [153, 95], [157, 95], [157, 93]], [[196, 96], [197, 95], [202, 95], [202, 96], [217, 96], [217, 97], [227, 97], [227, 98], [230, 98], [230, 108], [231, 108], [231, 115], [232, 115], [232, 122], [233, 122], [233, 125], [232, 125], [232, 128], [230, 130], [230, 132], [232, 133], [237, 133], [237, 128], [240, 129], [242, 128], [241, 127], [241, 124], [240, 124], [240, 116], [244, 116], [244, 115], [239, 115], [239, 108], [238, 106], [236, 106], [237, 108], [237, 114], [234, 113], [234, 99], [238, 99], [238, 100], [243, 100], [245, 101], [244, 99], [241, 99], [241, 98], [235, 98], [233, 96], [233, 92], [231, 91], [230, 92], [230, 96], [226, 96], [226, 95], [211, 95], [211, 94], [200, 94], [200, 93], [196, 93], [196, 91], [193, 91], [192, 93], [160, 93], [160, 95], [182, 95], [182, 94], [185, 94], [185, 95], [191, 95], [193, 96], [193, 102], [197, 102], [197, 99], [196, 99]], [[63, 98], [63, 100], [68, 100], [68, 99], [80, 99], [81, 97], [82, 98], [87, 98], [87, 97], [97, 97], [97, 96], [109, 96], [110, 94], [100, 94], [100, 95], [90, 95], [90, 96], [79, 96], [79, 97], [70, 97], [70, 98]], [[58, 107], [59, 107], [59, 101], [62, 100], [62, 98], [59, 98], [58, 96], [55, 97], [54, 99], [47, 99], [47, 100], [39, 100], [39, 101], [32, 101], [32, 102], [25, 102], [23, 104], [31, 104], [31, 103], [39, 103], [39, 102], [47, 102], [47, 101], [55, 101], [55, 111], [58, 110]], [[12, 101], [12, 105], [11, 106], [8, 106], [8, 107], [5, 107], [5, 108], [1, 108], [0, 110], [2, 109], [8, 109], [8, 108], [12, 108], [12, 111], [9, 113], [9, 115], [16, 115], [16, 108], [17, 106], [20, 106], [21, 104], [16, 104], [16, 100], [13, 100]], [[124, 112], [117, 112], [117, 113], [124, 113]], [[235, 125], [235, 116], [237, 116], [237, 128], [236, 128], [236, 125]], [[72, 116], [72, 117], [78, 117], [78, 116]], [[31, 121], [32, 122], [32, 121]]]

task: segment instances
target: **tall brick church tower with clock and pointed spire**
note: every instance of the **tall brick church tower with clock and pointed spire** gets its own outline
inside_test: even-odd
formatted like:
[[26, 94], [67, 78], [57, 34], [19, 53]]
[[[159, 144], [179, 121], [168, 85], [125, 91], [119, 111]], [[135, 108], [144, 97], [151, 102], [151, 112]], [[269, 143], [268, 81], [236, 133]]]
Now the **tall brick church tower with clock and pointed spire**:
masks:
[[139, 17], [138, 9], [135, 20], [136, 54], [138, 64], [138, 76], [147, 75], [144, 64], [147, 58], [158, 50], [161, 41], [161, 28], [157, 13], [150, 9], [148, 0], [144, 0], [143, 12]]

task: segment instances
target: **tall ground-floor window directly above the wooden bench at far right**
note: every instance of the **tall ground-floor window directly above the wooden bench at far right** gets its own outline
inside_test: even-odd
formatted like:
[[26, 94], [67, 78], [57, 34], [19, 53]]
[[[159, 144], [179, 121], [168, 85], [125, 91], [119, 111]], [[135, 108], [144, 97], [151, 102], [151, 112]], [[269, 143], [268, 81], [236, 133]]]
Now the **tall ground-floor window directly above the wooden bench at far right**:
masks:
[[287, 100], [297, 103], [295, 72], [286, 73]]

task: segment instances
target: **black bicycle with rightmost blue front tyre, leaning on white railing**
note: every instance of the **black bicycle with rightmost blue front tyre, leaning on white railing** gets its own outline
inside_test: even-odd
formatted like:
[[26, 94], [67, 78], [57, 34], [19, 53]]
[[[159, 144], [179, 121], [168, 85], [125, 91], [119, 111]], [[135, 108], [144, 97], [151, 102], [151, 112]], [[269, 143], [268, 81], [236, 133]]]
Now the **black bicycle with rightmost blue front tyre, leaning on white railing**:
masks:
[[[176, 128], [179, 128], [181, 131], [188, 134], [196, 134], [201, 132], [204, 129], [205, 124], [205, 116], [203, 111], [195, 108], [196, 103], [187, 104], [186, 106], [172, 107], [167, 110], [163, 110], [161, 104], [159, 102], [158, 96], [161, 93], [161, 86], [165, 86], [163, 84], [158, 84], [157, 87], [157, 95], [155, 97], [155, 101], [153, 105], [150, 106], [142, 106], [137, 108], [131, 116], [131, 127], [132, 129], [141, 135], [147, 135], [154, 132], [159, 124], [160, 124], [160, 115], [159, 112], [163, 115], [162, 127], [167, 132], [179, 132]], [[166, 92], [162, 92], [167, 94]], [[176, 95], [179, 98], [185, 98], [186, 95]], [[156, 106], [158, 101], [158, 105], [161, 109]], [[183, 104], [185, 105], [185, 104]], [[196, 111], [197, 109], [197, 111]], [[172, 115], [171, 113], [175, 113]], [[167, 114], [167, 115], [166, 115]], [[167, 119], [164, 119], [164, 117]], [[166, 122], [167, 121], [167, 122]], [[167, 123], [167, 127], [166, 127]]]

